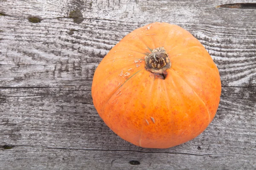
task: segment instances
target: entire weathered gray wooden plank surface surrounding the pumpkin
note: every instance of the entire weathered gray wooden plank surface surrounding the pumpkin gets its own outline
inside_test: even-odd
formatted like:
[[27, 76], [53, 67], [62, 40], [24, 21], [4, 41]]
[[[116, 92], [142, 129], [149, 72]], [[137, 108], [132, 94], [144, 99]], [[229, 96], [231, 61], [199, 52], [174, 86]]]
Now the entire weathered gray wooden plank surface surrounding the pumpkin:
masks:
[[[256, 169], [255, 4], [0, 0], [0, 170]], [[79, 18], [70, 18], [74, 10]], [[93, 73], [108, 51], [129, 32], [156, 21], [197, 37], [222, 82], [209, 127], [169, 149], [120, 139], [98, 116], [90, 94]]]

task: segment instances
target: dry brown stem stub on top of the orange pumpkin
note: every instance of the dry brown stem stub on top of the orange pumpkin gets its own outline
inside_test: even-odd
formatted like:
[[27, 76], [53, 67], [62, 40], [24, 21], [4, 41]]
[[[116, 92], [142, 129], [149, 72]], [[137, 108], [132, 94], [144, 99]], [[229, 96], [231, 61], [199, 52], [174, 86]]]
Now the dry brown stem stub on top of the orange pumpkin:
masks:
[[151, 54], [145, 56], [145, 69], [162, 79], [166, 78], [168, 68], [171, 68], [171, 62], [163, 47], [155, 48]]

